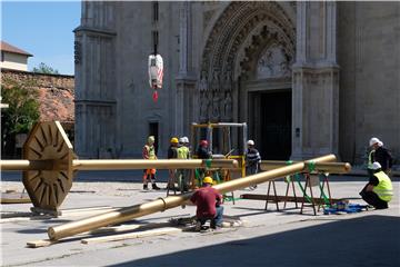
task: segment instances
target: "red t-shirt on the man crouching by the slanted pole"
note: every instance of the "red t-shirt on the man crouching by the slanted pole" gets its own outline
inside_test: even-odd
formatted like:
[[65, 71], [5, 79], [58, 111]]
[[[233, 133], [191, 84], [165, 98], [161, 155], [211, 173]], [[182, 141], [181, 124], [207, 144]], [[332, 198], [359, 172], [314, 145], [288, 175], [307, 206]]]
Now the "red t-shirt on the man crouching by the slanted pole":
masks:
[[216, 205], [220, 205], [221, 199], [222, 196], [217, 189], [212, 187], [202, 187], [194, 191], [190, 201], [197, 206], [196, 216], [198, 218], [207, 218], [216, 216]]

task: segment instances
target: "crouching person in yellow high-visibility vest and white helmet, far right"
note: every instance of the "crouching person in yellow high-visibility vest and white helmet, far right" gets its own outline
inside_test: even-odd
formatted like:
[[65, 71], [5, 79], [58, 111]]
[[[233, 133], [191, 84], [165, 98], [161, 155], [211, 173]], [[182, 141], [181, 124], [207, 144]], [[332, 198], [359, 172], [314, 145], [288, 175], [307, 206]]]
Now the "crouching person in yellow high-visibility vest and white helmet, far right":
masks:
[[372, 164], [373, 175], [367, 186], [361, 190], [362, 199], [376, 209], [388, 208], [388, 202], [393, 196], [393, 186], [390, 178], [382, 171], [382, 166], [374, 161]]

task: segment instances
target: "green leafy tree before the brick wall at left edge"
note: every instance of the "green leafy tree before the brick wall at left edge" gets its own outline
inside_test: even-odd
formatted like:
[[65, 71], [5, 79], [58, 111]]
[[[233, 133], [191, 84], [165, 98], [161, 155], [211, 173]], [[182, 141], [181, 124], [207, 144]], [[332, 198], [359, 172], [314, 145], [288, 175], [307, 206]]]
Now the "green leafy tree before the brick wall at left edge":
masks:
[[1, 101], [9, 105], [1, 110], [1, 148], [2, 154], [9, 157], [14, 156], [16, 136], [29, 132], [39, 120], [38, 91], [27, 85], [4, 81], [1, 97]]

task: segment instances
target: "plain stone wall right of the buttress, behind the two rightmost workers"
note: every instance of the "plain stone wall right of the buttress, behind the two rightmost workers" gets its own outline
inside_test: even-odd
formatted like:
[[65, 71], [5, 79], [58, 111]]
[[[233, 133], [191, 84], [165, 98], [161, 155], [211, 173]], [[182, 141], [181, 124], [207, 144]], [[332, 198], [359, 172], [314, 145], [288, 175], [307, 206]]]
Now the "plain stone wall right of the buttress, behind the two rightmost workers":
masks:
[[362, 164], [378, 137], [399, 164], [400, 3], [338, 6], [341, 159]]

